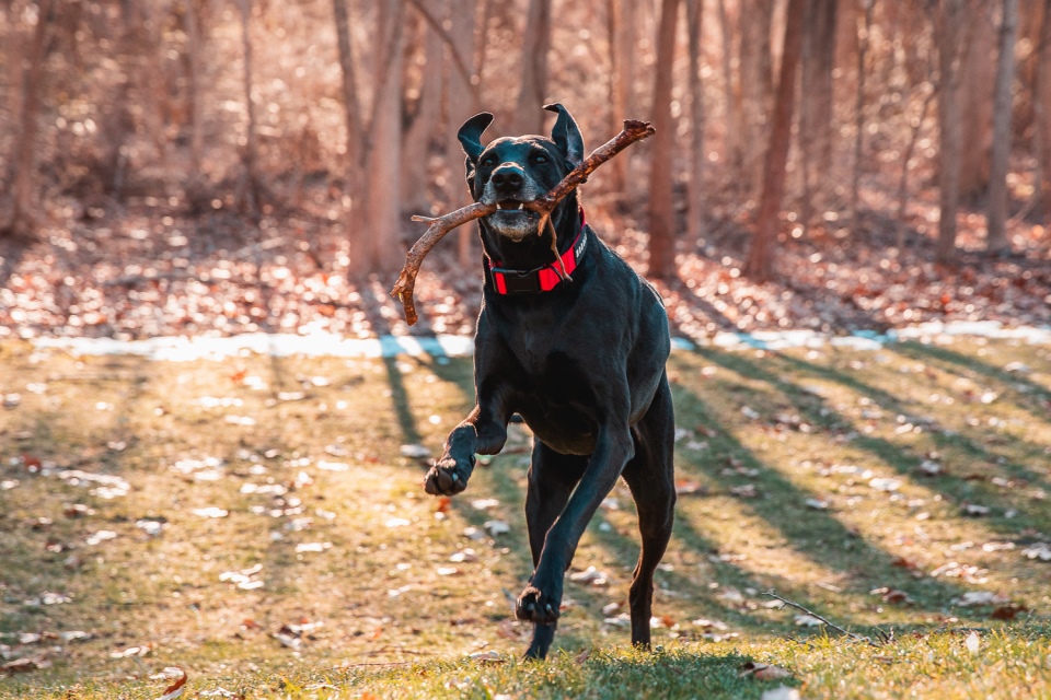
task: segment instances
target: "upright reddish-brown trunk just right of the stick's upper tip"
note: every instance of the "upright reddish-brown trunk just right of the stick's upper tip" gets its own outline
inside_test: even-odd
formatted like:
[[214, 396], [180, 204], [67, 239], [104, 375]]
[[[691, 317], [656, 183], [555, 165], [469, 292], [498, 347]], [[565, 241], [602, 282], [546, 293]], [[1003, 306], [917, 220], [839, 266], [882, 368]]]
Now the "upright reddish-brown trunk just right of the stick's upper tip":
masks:
[[654, 135], [649, 174], [649, 276], [669, 278], [675, 272], [674, 178], [675, 122], [671, 117], [671, 68], [675, 58], [679, 0], [661, 0], [657, 28], [657, 65], [654, 81]]

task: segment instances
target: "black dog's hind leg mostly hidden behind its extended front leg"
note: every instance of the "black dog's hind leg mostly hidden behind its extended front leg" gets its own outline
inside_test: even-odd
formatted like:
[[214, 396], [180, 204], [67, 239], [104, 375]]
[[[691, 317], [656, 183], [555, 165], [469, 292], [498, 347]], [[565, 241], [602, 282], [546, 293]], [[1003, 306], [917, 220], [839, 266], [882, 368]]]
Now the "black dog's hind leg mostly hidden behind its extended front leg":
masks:
[[[539, 440], [534, 441], [526, 494], [526, 524], [529, 528], [533, 569], [540, 562], [547, 530], [566, 506], [569, 494], [587, 466], [587, 457], [558, 454]], [[533, 641], [526, 652], [527, 658], [543, 658], [547, 655], [557, 625], [557, 620], [548, 625], [533, 625]]]

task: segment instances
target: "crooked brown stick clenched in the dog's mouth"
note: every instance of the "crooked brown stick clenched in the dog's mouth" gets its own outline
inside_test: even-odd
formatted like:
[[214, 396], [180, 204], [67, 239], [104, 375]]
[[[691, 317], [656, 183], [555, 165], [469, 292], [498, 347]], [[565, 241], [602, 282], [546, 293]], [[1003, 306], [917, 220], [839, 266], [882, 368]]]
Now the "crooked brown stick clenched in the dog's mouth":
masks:
[[[586, 183], [588, 176], [594, 172], [594, 168], [609, 161], [635, 141], [640, 141], [654, 133], [656, 133], [656, 129], [654, 129], [648, 121], [625, 119], [624, 129], [622, 129], [620, 133], [594, 149], [580, 165], [573, 168], [550, 192], [533, 201], [522, 202], [524, 209], [535, 211], [540, 214], [538, 231], [542, 233], [545, 230], [551, 219], [551, 212], [558, 206], [558, 202], [574, 189]], [[409, 248], [405, 255], [405, 267], [402, 268], [402, 273], [399, 275], [397, 282], [394, 283], [394, 288], [391, 290], [391, 296], [400, 299], [402, 305], [405, 307], [405, 320], [409, 326], [415, 325], [418, 319], [416, 315], [416, 302], [413, 299], [413, 290], [416, 288], [416, 276], [419, 273], [419, 266], [423, 265], [424, 258], [447, 233], [457, 226], [462, 226], [469, 221], [487, 217], [497, 209], [498, 205], [496, 203], [486, 205], [483, 202], [474, 202], [473, 205], [457, 209], [441, 217], [413, 217], [413, 221], [423, 221], [429, 225], [424, 235], [413, 244], [413, 247]], [[552, 238], [554, 238], [554, 234], [552, 234]], [[552, 243], [552, 245], [555, 244]], [[558, 257], [557, 253], [555, 257]]]

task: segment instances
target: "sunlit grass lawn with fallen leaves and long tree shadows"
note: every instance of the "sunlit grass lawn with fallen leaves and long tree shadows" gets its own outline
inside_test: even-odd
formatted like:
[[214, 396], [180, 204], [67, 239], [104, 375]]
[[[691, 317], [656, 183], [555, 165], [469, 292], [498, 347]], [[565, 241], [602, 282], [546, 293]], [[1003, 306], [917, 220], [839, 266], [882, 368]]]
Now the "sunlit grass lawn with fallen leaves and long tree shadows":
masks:
[[705, 348], [669, 374], [659, 646], [625, 646], [621, 485], [535, 664], [509, 603], [528, 431], [451, 501], [402, 450], [438, 454], [470, 360], [4, 342], [0, 698], [158, 698], [176, 665], [184, 698], [1051, 698], [1051, 349]]

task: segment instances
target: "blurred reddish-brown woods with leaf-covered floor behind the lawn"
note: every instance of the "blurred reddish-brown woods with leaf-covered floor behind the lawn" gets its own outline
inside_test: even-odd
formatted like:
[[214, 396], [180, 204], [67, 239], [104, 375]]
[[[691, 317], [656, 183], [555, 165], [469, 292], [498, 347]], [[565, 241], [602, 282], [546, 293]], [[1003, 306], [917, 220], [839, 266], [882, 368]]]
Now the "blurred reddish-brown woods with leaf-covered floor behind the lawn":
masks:
[[[406, 330], [455, 131], [593, 148], [586, 189], [675, 330], [1051, 318], [1043, 0], [5, 0], [0, 332]], [[473, 226], [421, 332], [470, 332]], [[311, 325], [313, 324], [313, 325]]]

